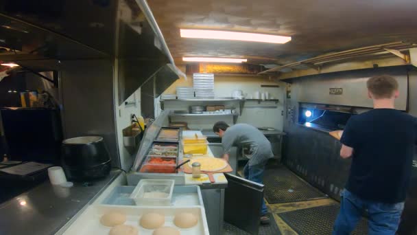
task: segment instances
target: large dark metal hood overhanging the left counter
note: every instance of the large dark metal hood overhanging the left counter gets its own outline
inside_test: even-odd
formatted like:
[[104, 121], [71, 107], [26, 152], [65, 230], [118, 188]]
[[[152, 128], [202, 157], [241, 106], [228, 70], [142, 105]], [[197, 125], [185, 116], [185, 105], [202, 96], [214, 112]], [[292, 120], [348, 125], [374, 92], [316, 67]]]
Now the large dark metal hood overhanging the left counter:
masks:
[[161, 67], [181, 74], [145, 0], [0, 0], [0, 46], [11, 49], [0, 60], [26, 67], [116, 58], [119, 104]]

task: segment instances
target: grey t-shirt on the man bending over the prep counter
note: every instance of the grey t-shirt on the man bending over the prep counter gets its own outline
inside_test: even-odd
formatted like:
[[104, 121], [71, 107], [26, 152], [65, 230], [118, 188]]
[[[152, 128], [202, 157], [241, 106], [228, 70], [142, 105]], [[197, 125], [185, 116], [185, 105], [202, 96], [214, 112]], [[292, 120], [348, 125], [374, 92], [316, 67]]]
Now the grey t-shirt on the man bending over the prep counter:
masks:
[[235, 124], [227, 128], [222, 137], [224, 153], [229, 153], [230, 148], [248, 148], [249, 166], [262, 164], [267, 159], [274, 157], [270, 141], [258, 128], [248, 124]]

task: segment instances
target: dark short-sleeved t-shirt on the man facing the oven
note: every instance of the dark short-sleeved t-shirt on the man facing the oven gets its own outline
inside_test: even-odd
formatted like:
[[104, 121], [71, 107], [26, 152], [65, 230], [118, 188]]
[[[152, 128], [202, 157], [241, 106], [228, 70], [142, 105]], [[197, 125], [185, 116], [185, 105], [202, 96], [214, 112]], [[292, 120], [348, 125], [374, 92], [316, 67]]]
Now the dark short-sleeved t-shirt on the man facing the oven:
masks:
[[353, 148], [347, 190], [371, 201], [405, 200], [417, 143], [415, 117], [372, 109], [350, 117], [340, 141]]

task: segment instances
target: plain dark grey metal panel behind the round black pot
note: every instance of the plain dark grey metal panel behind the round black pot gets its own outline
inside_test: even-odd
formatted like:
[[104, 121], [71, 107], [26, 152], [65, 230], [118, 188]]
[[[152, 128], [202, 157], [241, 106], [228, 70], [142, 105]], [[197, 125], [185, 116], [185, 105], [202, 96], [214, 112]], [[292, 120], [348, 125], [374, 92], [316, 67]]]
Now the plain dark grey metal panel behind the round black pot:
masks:
[[60, 75], [64, 138], [104, 137], [112, 166], [120, 167], [112, 60], [62, 61]]

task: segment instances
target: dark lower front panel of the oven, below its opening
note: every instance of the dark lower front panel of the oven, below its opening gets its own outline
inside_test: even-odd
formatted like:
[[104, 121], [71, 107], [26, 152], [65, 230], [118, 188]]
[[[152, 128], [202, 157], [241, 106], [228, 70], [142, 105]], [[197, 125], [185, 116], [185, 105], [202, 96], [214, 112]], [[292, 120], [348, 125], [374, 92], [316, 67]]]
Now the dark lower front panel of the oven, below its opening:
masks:
[[305, 126], [292, 125], [285, 132], [283, 162], [311, 185], [340, 199], [351, 161], [339, 157], [340, 142], [329, 133]]

